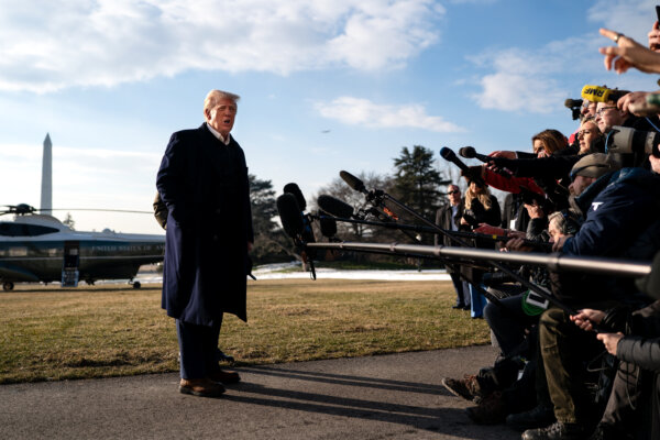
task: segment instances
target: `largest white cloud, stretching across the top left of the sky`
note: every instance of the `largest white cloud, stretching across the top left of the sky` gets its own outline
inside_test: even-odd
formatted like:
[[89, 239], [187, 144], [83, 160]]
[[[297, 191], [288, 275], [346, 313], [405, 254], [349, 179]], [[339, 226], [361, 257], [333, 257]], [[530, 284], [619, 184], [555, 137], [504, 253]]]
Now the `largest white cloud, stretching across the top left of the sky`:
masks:
[[0, 4], [0, 89], [113, 86], [187, 69], [395, 68], [438, 40], [443, 14], [432, 0], [11, 1]]

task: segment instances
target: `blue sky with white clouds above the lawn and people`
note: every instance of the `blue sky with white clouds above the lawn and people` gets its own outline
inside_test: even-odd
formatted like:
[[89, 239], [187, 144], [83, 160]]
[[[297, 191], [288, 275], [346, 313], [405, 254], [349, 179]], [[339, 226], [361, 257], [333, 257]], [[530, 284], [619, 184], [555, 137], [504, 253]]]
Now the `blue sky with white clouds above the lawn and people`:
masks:
[[[575, 130], [563, 102], [586, 84], [658, 88], [597, 53], [602, 26], [646, 44], [654, 4], [0, 0], [0, 204], [38, 207], [50, 133], [54, 208], [150, 210], [169, 135], [202, 122], [212, 88], [241, 95], [233, 135], [278, 194], [392, 173], [403, 146], [529, 150]], [[151, 216], [72, 215], [161, 232]]]

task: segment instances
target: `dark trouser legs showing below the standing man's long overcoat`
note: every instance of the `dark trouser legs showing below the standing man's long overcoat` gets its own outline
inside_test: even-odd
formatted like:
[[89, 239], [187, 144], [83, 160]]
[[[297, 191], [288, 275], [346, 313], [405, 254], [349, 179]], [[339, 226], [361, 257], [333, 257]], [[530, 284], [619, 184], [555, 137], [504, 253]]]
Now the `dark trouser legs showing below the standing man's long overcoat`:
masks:
[[222, 320], [215, 326], [198, 326], [176, 320], [182, 378], [202, 378], [218, 372], [218, 338]]

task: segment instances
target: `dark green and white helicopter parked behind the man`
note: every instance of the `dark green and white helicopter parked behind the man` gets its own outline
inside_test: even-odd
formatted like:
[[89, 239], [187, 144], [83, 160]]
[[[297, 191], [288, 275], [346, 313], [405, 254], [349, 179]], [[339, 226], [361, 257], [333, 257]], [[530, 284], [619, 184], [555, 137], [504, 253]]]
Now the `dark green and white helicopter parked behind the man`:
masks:
[[[51, 210], [48, 210], [51, 211]], [[124, 211], [142, 212], [142, 211]], [[62, 287], [89, 285], [98, 279], [133, 280], [141, 265], [163, 261], [165, 235], [75, 231], [57, 218], [21, 204], [7, 206], [0, 216], [0, 283], [61, 282]]]

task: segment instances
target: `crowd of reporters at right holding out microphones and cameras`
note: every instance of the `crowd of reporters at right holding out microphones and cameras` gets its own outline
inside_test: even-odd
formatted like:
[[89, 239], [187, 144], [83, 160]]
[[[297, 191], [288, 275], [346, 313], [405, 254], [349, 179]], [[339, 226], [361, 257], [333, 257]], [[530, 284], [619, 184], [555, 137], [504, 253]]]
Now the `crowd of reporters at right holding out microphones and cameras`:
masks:
[[[660, 73], [658, 28], [650, 48], [601, 30], [617, 44], [601, 50], [605, 66]], [[538, 252], [546, 242], [564, 255], [652, 261], [652, 272], [636, 280], [520, 267], [551, 292], [547, 301], [484, 267], [449, 266], [455, 307], [485, 317], [502, 353], [494, 365], [443, 385], [477, 404], [468, 408], [475, 422], [506, 421], [526, 440], [658, 439], [660, 95], [585, 86], [582, 98], [570, 136], [544, 130], [532, 136], [530, 153], [462, 151], [484, 164], [463, 170], [464, 197], [452, 185], [437, 222], [507, 237], [503, 252]], [[508, 194], [502, 210], [488, 187]]]

